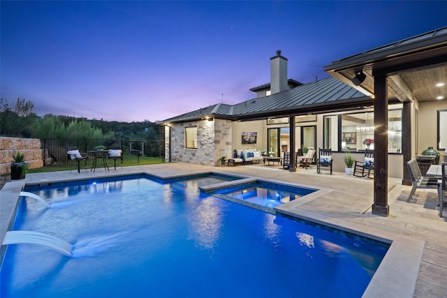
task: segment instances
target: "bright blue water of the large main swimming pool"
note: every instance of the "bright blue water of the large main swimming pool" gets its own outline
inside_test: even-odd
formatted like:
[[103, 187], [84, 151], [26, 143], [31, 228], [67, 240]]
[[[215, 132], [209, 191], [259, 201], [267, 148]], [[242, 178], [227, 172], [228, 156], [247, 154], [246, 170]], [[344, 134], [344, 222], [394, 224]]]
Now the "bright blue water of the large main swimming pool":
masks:
[[73, 244], [10, 245], [0, 296], [361, 297], [388, 246], [147, 177], [27, 188], [13, 230]]

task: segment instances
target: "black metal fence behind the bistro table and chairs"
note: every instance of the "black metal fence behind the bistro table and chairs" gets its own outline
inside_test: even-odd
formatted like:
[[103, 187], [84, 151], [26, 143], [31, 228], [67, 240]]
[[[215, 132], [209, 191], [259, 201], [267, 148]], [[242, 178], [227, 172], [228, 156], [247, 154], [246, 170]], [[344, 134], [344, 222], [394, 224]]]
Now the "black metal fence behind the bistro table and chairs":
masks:
[[71, 165], [67, 155], [67, 147], [78, 147], [81, 154], [89, 155], [89, 151], [108, 149], [119, 146], [123, 151], [123, 163], [138, 165], [139, 163], [156, 163], [164, 161], [164, 140], [117, 140], [117, 139], [41, 139], [44, 165]]

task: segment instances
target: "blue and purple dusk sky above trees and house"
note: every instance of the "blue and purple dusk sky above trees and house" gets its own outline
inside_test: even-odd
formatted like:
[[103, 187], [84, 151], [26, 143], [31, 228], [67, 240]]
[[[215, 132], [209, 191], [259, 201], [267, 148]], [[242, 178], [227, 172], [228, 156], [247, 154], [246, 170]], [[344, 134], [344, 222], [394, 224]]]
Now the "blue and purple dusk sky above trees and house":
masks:
[[[447, 1], [1, 1], [1, 97], [34, 112], [158, 121], [447, 26]], [[222, 96], [223, 94], [223, 96]]]

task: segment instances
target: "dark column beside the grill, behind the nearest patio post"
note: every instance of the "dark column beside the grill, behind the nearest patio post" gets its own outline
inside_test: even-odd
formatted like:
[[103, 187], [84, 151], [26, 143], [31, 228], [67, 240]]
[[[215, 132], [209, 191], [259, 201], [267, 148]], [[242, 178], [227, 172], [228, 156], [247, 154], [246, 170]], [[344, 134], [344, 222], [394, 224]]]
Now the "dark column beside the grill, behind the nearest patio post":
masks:
[[408, 166], [406, 162], [411, 159], [411, 102], [407, 101], [404, 103], [404, 107], [402, 109], [402, 155], [404, 157], [404, 179], [402, 179], [402, 185], [411, 185], [411, 177], [410, 172], [408, 170]]

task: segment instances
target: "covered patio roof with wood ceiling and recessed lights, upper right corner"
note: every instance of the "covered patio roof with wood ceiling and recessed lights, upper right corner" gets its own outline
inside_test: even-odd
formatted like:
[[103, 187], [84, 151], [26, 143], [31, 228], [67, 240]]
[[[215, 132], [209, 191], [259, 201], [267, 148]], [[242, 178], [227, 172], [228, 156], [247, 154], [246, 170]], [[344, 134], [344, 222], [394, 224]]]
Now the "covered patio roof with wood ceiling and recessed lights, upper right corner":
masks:
[[[388, 75], [388, 100], [446, 100], [447, 27], [334, 61], [324, 70], [369, 96], [374, 76]], [[351, 81], [357, 72], [366, 75], [358, 86]]]

